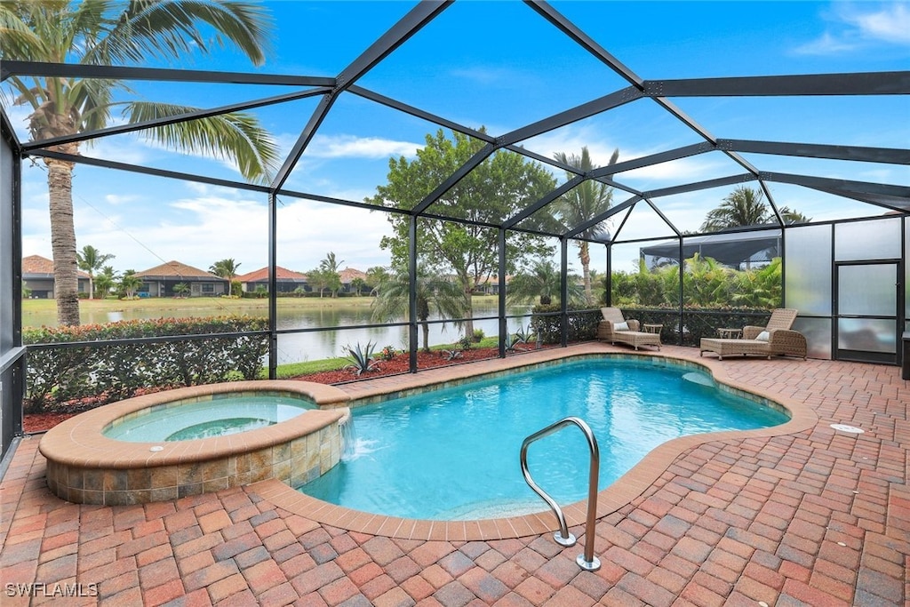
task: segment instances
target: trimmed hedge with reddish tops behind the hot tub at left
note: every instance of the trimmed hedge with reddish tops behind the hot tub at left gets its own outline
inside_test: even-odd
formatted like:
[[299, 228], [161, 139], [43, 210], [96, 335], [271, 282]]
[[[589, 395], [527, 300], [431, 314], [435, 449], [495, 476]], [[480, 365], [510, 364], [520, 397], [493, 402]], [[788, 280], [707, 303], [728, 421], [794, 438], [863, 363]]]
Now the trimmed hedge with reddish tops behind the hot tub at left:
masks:
[[25, 329], [25, 344], [175, 336], [156, 343], [29, 349], [25, 413], [82, 410], [136, 394], [218, 381], [256, 379], [268, 335], [180, 339], [179, 336], [268, 329], [267, 319], [124, 320], [104, 325]]

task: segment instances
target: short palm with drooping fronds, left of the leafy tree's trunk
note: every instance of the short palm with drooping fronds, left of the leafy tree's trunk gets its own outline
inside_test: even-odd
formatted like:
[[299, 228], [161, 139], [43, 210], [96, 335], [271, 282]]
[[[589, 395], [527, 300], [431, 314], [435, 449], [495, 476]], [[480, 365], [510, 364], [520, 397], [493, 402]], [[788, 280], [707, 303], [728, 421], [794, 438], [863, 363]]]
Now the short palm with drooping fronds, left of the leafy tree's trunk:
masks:
[[[427, 273], [422, 268], [417, 271], [414, 282], [417, 290], [417, 320], [423, 335], [423, 351], [430, 351], [430, 312], [435, 310], [441, 317], [460, 319], [464, 315], [464, 293], [459, 285], [440, 276]], [[377, 297], [370, 306], [373, 309], [373, 322], [387, 322], [400, 319], [408, 309], [410, 298], [410, 277], [404, 270], [389, 274], [376, 288]], [[455, 322], [460, 326], [460, 322]]]

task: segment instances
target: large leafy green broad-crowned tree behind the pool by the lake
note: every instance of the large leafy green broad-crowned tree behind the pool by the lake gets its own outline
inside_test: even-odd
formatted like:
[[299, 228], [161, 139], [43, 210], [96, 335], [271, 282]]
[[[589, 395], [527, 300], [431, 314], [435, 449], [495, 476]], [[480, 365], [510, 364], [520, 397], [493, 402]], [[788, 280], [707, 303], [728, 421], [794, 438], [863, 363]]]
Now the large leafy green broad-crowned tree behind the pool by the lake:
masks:
[[[426, 146], [417, 157], [389, 160], [389, 183], [377, 187], [367, 202], [378, 207], [416, 207], [434, 187], [440, 185], [477, 153], [483, 142], [461, 133], [446, 137], [442, 129], [427, 135]], [[435, 215], [475, 222], [494, 223], [518, 214], [531, 201], [555, 187], [551, 174], [535, 162], [509, 151], [499, 151], [474, 167], [430, 207]], [[394, 235], [382, 238], [379, 246], [389, 249], [392, 266], [407, 267], [410, 218], [389, 213]], [[471, 293], [498, 272], [498, 232], [480, 223], [420, 219], [417, 238], [420, 265], [436, 275], [453, 274], [461, 289], [465, 329], [473, 332]], [[507, 272], [523, 259], [551, 252], [541, 238], [511, 233], [506, 242]]]

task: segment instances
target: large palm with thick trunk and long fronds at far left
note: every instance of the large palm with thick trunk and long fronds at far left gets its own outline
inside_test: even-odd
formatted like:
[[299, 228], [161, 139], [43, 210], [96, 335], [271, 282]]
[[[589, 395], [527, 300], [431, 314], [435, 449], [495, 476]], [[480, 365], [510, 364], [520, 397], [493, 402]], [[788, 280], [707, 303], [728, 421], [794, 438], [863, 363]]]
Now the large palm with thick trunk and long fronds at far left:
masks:
[[[200, 28], [201, 25], [201, 28]], [[265, 60], [270, 21], [262, 5], [224, 0], [5, 0], [0, 5], [0, 53], [5, 59], [93, 66], [142, 65], [177, 61], [193, 50], [207, 53], [209, 41], [225, 40], [238, 47], [254, 65]], [[215, 35], [208, 30], [214, 28]], [[136, 124], [177, 116], [193, 108], [151, 101], [116, 102], [115, 94], [131, 93], [125, 83], [105, 78], [60, 76], [10, 77], [17, 105], [34, 110], [29, 116], [33, 139], [66, 137], [95, 131], [111, 121], [121, 106], [126, 122]], [[258, 121], [244, 114], [226, 114], [156, 126], [147, 138], [189, 153], [233, 158], [244, 178], [268, 182], [277, 167], [278, 147]], [[76, 156], [81, 142], [47, 147]], [[51, 242], [57, 320], [79, 324], [76, 274], [76, 230], [73, 225], [74, 163], [45, 158], [50, 195]]]

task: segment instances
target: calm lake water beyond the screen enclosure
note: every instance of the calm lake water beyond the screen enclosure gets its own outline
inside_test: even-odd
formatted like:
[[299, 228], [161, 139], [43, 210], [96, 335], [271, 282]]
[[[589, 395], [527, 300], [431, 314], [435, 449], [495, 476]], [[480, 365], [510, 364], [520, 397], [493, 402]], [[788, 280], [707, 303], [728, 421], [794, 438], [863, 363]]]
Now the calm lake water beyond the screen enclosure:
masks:
[[[408, 346], [407, 327], [383, 326], [368, 329], [364, 325], [372, 324], [369, 305], [363, 303], [332, 302], [330, 306], [313, 308], [282, 307], [278, 300], [278, 329], [320, 329], [337, 328], [332, 330], [308, 331], [305, 333], [282, 334], [278, 336], [278, 364], [290, 362], [304, 362], [308, 360], [330, 359], [346, 356], [345, 346], [356, 346], [358, 343], [366, 345], [368, 341], [376, 344], [379, 350], [385, 346], [396, 349], [406, 349]], [[162, 317], [204, 317], [223, 316], [225, 314], [247, 314], [249, 316], [266, 318], [268, 304], [254, 304], [244, 309], [125, 309], [122, 312], [102, 312], [88, 310], [83, 307], [81, 320], [83, 324], [115, 322], [117, 320], [158, 319]], [[509, 315], [530, 314], [531, 306], [511, 306]], [[474, 317], [496, 316], [496, 301], [475, 301]], [[431, 318], [432, 319], [432, 318]], [[522, 326], [527, 327], [530, 319], [510, 319], [509, 330], [515, 331]], [[401, 322], [402, 319], [396, 320]], [[23, 314], [24, 327], [40, 327], [42, 325], [56, 326], [56, 312], [49, 314]], [[482, 329], [487, 336], [496, 335], [499, 331], [497, 319], [475, 320], [475, 329]], [[419, 339], [422, 339], [418, 330]], [[464, 334], [464, 329], [457, 328], [451, 323], [430, 325], [430, 345], [453, 343]]]

